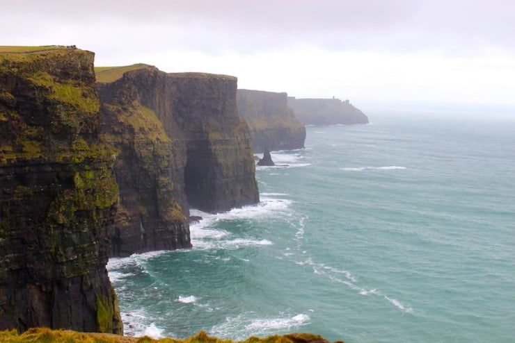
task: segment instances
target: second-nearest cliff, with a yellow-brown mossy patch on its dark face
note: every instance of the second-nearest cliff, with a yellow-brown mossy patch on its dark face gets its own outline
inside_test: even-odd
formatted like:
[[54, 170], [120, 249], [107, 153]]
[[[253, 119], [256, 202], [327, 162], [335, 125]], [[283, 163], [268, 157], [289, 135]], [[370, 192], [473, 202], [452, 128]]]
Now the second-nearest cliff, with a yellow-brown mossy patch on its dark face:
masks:
[[154, 110], [142, 104], [142, 99], [148, 105], [147, 99], [159, 98], [163, 74], [144, 66], [97, 85], [102, 136], [118, 149], [120, 208], [111, 256], [191, 247], [184, 137], [175, 127], [176, 135], [169, 137]]

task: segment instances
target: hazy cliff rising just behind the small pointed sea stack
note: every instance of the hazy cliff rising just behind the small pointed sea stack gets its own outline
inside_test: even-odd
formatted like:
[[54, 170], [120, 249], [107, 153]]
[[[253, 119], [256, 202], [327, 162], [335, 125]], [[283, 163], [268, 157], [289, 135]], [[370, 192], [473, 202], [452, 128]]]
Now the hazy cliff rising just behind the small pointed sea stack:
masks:
[[304, 147], [306, 127], [288, 107], [286, 93], [238, 90], [237, 106], [251, 130], [255, 153]]

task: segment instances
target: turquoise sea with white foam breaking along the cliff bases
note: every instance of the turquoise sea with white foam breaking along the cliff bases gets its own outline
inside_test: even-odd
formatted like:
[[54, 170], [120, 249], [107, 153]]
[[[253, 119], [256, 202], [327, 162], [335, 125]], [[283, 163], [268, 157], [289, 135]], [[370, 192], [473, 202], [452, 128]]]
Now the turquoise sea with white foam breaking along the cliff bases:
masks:
[[128, 335], [515, 342], [515, 122], [309, 126], [194, 248], [111, 259]]

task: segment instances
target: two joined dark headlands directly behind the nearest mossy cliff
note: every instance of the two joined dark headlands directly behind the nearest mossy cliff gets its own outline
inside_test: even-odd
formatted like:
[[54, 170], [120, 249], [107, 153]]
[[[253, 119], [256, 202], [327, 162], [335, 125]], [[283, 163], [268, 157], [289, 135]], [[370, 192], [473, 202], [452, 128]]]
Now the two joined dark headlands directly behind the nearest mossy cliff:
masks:
[[120, 150], [113, 255], [191, 246], [189, 206], [220, 212], [259, 202], [236, 78], [148, 65], [97, 70], [102, 132]]

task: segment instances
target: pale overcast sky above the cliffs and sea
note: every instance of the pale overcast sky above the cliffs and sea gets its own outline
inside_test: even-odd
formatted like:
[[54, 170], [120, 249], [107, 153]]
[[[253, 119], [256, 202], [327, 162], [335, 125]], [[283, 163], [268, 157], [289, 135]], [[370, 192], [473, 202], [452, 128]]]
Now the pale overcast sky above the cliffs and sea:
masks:
[[515, 0], [1, 0], [0, 45], [238, 77], [294, 97], [515, 108]]

